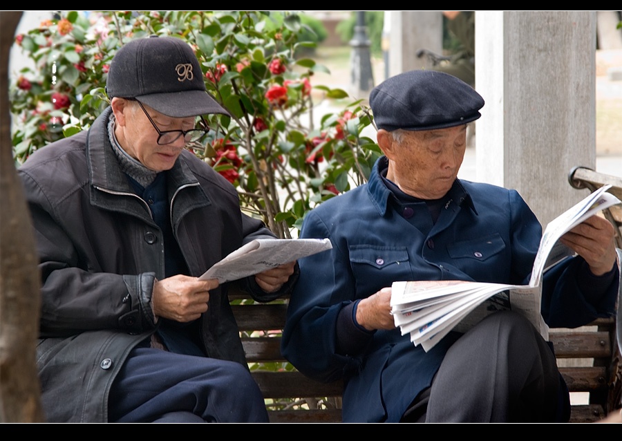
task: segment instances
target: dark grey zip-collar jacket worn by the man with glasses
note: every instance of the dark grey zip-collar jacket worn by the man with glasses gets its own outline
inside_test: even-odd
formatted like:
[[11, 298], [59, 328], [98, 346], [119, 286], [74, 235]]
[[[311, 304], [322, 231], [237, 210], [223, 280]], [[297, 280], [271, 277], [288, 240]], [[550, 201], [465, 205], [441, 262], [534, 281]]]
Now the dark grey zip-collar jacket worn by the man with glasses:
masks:
[[[153, 283], [164, 278], [162, 232], [133, 194], [109, 140], [106, 109], [88, 131], [41, 149], [19, 169], [32, 213], [41, 271], [37, 365], [48, 421], [106, 422], [110, 386], [129, 351], [156, 330]], [[261, 236], [241, 214], [236, 190], [184, 151], [168, 171], [173, 232], [191, 276]], [[297, 273], [296, 273], [297, 276]], [[251, 280], [259, 301], [265, 294]], [[245, 364], [227, 285], [213, 290], [200, 319], [209, 357]]]

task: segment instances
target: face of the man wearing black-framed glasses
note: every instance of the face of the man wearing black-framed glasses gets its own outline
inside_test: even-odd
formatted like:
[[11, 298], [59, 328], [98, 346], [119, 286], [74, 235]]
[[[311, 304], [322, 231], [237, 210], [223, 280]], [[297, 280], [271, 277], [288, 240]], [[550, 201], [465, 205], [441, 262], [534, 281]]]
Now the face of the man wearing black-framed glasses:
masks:
[[160, 131], [194, 129], [195, 118], [172, 118], [145, 105], [143, 111], [138, 102], [124, 101], [124, 118], [120, 121], [117, 117], [117, 125], [122, 127], [122, 135], [115, 132], [123, 149], [148, 169], [153, 171], [171, 169], [184, 149], [184, 137], [180, 136], [171, 144], [159, 145], [158, 131], [153, 127], [145, 112], [149, 113], [151, 120]]

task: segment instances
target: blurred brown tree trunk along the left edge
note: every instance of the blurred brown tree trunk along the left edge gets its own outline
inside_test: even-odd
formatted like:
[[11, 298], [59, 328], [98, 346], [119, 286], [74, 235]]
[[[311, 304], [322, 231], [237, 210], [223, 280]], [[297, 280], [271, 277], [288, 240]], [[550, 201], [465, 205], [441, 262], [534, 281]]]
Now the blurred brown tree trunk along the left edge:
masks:
[[21, 11], [0, 12], [0, 422], [44, 422], [35, 363], [40, 276], [12, 155], [8, 64]]

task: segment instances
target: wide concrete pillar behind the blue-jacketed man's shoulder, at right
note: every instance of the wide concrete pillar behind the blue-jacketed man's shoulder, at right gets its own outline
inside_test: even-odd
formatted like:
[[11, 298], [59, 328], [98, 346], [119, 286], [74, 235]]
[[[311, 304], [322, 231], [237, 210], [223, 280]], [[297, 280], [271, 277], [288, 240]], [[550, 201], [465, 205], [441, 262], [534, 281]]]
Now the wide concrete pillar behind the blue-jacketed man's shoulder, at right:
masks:
[[477, 178], [517, 189], [543, 227], [587, 193], [596, 164], [596, 12], [475, 12]]

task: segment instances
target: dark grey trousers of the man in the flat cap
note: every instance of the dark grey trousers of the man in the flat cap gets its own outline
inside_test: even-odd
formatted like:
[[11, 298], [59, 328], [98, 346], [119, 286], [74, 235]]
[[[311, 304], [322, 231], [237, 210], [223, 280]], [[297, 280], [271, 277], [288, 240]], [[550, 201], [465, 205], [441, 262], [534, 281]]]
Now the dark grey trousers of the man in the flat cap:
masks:
[[567, 422], [569, 393], [549, 344], [515, 312], [462, 335], [404, 422]]

